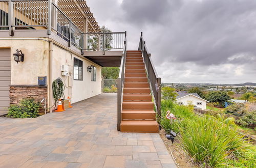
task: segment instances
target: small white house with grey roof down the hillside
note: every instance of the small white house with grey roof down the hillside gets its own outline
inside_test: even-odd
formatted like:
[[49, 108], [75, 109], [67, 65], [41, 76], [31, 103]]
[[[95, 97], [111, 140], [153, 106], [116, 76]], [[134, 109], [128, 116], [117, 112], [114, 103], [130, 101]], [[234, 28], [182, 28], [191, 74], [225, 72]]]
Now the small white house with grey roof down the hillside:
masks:
[[191, 103], [195, 107], [206, 109], [206, 103], [209, 102], [201, 98], [197, 93], [186, 93], [186, 92], [177, 92], [177, 93], [178, 93], [178, 96], [176, 98], [176, 101], [180, 105], [188, 105]]

